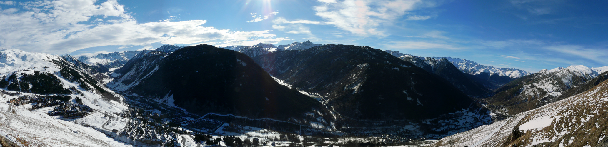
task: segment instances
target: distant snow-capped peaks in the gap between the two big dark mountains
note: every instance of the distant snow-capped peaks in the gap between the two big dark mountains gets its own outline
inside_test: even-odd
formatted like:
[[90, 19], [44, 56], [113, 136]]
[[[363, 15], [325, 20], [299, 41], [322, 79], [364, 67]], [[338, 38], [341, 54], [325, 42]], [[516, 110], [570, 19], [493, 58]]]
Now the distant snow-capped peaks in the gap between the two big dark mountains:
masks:
[[219, 48], [235, 50], [237, 52], [245, 53], [245, 55], [253, 58], [254, 56], [264, 55], [266, 53], [272, 53], [278, 50], [305, 50], [316, 46], [322, 46], [322, 44], [313, 44], [310, 41], [304, 41], [302, 43], [295, 42], [292, 44], [279, 46], [274, 46], [273, 44], [258, 43], [254, 46], [226, 46]]

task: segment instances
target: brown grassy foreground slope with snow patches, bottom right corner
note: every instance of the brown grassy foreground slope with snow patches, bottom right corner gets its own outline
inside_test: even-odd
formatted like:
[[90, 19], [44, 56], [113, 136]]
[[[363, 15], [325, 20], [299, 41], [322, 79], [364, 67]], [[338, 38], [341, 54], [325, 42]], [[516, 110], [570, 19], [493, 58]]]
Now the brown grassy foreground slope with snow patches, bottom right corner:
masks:
[[428, 146], [608, 146], [608, 81]]

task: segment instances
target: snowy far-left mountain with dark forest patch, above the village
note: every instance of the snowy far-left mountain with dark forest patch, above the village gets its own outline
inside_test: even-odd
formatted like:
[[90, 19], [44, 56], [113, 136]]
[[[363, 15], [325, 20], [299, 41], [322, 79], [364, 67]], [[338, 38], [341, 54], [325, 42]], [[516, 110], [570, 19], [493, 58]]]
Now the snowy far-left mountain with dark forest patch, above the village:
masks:
[[103, 84], [106, 78], [89, 73], [98, 72], [72, 56], [0, 49], [0, 88], [9, 93], [32, 97], [66, 95], [69, 101], [80, 97], [83, 104], [106, 112], [127, 109], [122, 96]]

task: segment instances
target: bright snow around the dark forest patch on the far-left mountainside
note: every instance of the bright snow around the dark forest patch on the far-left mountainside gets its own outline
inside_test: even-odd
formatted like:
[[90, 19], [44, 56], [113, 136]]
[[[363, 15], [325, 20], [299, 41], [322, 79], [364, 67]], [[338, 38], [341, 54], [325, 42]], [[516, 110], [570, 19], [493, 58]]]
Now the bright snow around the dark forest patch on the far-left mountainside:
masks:
[[[90, 68], [90, 67], [89, 67]], [[87, 83], [79, 83], [77, 81], [66, 80], [61, 75], [61, 70], [71, 70], [74, 74], [78, 74], [86, 80]], [[97, 81], [89, 72], [92, 69], [78, 67], [74, 63], [65, 60], [61, 56], [49, 55], [46, 53], [24, 52], [16, 49], [0, 49], [0, 77], [17, 75], [21, 78], [23, 75], [34, 74], [36, 71], [49, 72], [60, 81], [64, 89], [76, 87], [76, 91], [72, 91], [72, 98], [81, 97], [83, 103], [90, 106], [92, 109], [106, 112], [122, 112], [127, 108], [122, 103], [122, 96], [115, 94], [113, 91], [105, 87], [101, 81]], [[95, 87], [85, 90], [83, 86]], [[30, 86], [31, 87], [31, 86]], [[97, 89], [98, 88], [98, 89]], [[8, 92], [9, 89], [4, 89]], [[22, 89], [23, 92], [17, 92], [19, 95], [32, 95], [27, 89]], [[8, 101], [7, 98], [0, 98], [2, 101]]]

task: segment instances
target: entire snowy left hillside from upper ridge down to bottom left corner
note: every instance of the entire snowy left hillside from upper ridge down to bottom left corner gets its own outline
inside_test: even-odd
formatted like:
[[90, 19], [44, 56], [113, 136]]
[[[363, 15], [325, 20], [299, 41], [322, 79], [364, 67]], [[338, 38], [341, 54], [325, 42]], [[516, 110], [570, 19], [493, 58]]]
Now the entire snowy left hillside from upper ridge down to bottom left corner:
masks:
[[[104, 76], [72, 56], [0, 49], [0, 135], [21, 146], [123, 146], [93, 129], [128, 109], [124, 98], [104, 85]], [[75, 104], [83, 109], [58, 113], [86, 115], [72, 122], [57, 119], [66, 115], [49, 116], [55, 106]]]

